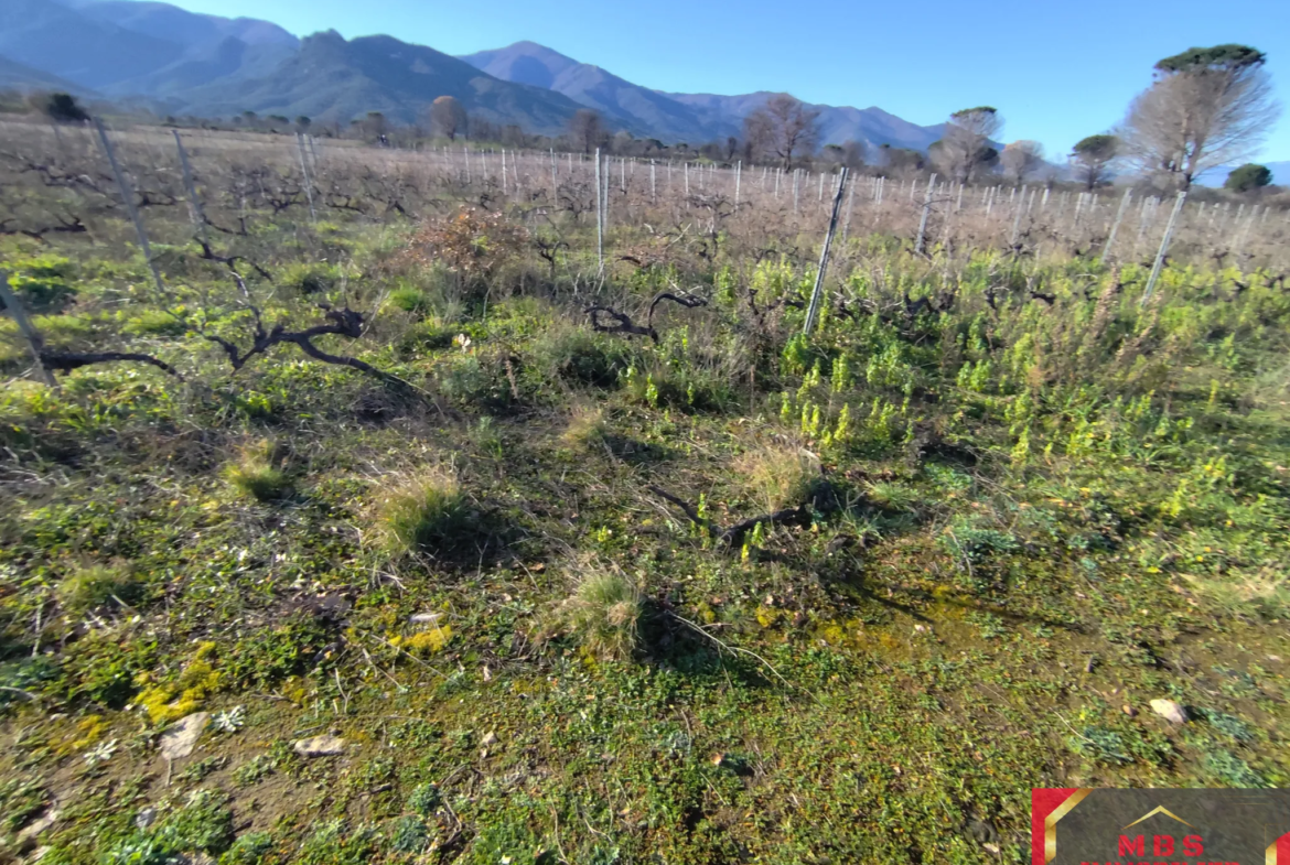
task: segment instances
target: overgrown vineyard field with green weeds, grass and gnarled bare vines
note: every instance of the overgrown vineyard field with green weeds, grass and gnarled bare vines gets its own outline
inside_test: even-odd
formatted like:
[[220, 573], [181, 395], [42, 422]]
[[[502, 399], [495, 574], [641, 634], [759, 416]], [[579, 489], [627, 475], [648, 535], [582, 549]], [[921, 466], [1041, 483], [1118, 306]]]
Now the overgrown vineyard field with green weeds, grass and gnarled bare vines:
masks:
[[1170, 200], [859, 178], [804, 335], [835, 175], [614, 161], [601, 262], [573, 157], [186, 134], [199, 209], [108, 134], [151, 259], [0, 126], [0, 860], [1023, 862], [1033, 786], [1290, 785], [1284, 210], [1148, 294]]

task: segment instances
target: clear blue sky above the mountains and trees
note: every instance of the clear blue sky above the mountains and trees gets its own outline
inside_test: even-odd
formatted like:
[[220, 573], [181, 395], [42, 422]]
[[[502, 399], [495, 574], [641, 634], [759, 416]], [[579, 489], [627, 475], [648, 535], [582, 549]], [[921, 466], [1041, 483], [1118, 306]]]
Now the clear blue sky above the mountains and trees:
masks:
[[[172, 1], [267, 18], [298, 35], [388, 34], [449, 54], [529, 39], [662, 90], [787, 90], [808, 102], [878, 106], [917, 124], [992, 104], [1006, 121], [1005, 141], [1033, 138], [1050, 156], [1112, 126], [1149, 83], [1152, 64], [1192, 45], [1259, 48], [1278, 98], [1290, 102], [1290, 0]], [[1286, 112], [1262, 159], [1290, 160]]]

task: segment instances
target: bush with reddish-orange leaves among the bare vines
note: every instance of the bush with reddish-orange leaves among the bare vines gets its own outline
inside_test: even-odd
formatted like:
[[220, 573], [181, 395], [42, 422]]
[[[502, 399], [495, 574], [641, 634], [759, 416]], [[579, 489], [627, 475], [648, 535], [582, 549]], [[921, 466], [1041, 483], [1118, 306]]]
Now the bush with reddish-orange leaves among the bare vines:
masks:
[[529, 232], [501, 213], [462, 208], [422, 223], [408, 254], [421, 264], [445, 266], [464, 289], [489, 287], [497, 272], [520, 257], [528, 240]]

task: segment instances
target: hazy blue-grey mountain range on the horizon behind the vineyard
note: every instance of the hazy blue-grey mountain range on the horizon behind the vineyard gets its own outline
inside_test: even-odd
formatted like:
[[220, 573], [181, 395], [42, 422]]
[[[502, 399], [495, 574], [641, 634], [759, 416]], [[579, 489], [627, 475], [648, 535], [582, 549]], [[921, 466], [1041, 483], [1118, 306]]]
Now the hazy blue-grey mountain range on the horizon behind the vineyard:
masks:
[[[370, 111], [424, 119], [453, 95], [467, 112], [556, 134], [580, 108], [667, 144], [738, 135], [774, 94], [663, 93], [535, 43], [450, 57], [392, 36], [297, 39], [277, 24], [142, 0], [0, 0], [0, 86], [67, 89], [166, 115], [244, 111], [348, 122]], [[881, 108], [813, 106], [820, 143], [926, 150], [940, 126]]]

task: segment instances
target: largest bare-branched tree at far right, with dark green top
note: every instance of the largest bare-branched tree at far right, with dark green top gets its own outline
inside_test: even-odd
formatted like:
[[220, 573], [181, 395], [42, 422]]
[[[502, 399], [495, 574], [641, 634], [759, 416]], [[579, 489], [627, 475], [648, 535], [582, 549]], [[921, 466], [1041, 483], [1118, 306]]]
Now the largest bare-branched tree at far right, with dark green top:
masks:
[[1182, 190], [1206, 169], [1250, 156], [1280, 113], [1265, 61], [1247, 45], [1215, 45], [1156, 63], [1120, 131], [1126, 156]]

